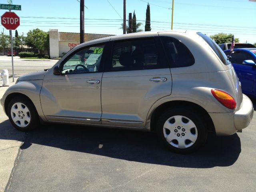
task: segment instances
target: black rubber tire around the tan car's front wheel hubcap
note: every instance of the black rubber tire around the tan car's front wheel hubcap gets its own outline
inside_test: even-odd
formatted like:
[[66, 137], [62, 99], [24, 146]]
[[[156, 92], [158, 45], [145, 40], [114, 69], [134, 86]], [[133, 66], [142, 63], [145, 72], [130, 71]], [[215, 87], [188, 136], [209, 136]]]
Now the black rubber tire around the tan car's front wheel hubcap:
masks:
[[[12, 119], [12, 112], [11, 112], [11, 109], [12, 109], [12, 106], [16, 103], [22, 103], [24, 104], [24, 106], [26, 108], [28, 108], [28, 111], [29, 111], [29, 118], [30, 118], [30, 122], [25, 124], [24, 127], [21, 127], [21, 126], [18, 126], [18, 122], [17, 124], [14, 122], [14, 120]], [[26, 109], [25, 108], [25, 109]], [[18, 113], [17, 113], [18, 115]], [[21, 115], [21, 114], [20, 114]], [[22, 115], [24, 116], [23, 112], [22, 112]], [[36, 128], [38, 128], [38, 126], [40, 125], [40, 122], [39, 122], [39, 117], [38, 117], [38, 113], [36, 111], [36, 108], [34, 106], [34, 104], [28, 100], [28, 98], [24, 97], [24, 96], [19, 96], [19, 97], [15, 97], [13, 98], [9, 104], [8, 104], [8, 117], [9, 117], [9, 120], [10, 122], [12, 123], [12, 125], [20, 130], [20, 131], [30, 131], [30, 130], [34, 130]], [[18, 118], [18, 117], [17, 117]], [[22, 117], [23, 118], [23, 117]]]

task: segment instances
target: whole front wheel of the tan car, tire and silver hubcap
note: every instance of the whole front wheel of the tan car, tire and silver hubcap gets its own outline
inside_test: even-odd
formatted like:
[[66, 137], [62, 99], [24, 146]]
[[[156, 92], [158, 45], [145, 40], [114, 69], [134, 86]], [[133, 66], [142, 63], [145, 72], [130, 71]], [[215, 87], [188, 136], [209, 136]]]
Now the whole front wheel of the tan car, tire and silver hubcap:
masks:
[[39, 126], [36, 108], [25, 97], [15, 97], [8, 104], [8, 117], [12, 125], [20, 131], [28, 131]]

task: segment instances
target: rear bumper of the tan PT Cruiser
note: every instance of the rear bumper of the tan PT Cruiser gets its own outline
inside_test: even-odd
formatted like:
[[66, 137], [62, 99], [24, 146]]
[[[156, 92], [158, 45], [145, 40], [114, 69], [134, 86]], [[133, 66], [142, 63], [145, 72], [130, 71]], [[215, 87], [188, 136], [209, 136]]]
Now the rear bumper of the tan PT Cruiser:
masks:
[[241, 108], [233, 113], [209, 113], [217, 135], [232, 135], [246, 128], [253, 117], [252, 101], [243, 94]]

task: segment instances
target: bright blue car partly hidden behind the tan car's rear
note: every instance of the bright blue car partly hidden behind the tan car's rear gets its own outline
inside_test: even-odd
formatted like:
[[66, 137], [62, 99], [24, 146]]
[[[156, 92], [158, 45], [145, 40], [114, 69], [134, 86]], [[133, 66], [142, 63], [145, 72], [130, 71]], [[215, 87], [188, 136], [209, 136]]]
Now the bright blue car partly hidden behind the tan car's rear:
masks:
[[225, 50], [241, 82], [242, 92], [256, 97], [256, 48]]

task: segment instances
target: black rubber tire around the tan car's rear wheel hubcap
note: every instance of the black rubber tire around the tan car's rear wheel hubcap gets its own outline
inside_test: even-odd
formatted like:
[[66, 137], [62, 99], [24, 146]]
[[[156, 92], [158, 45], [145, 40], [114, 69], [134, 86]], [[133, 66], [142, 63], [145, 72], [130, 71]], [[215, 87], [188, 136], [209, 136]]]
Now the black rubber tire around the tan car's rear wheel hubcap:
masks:
[[[184, 122], [185, 123], [187, 122], [189, 124], [188, 126], [191, 126], [192, 123], [194, 123], [195, 128], [186, 128], [186, 126], [184, 125], [184, 129], [183, 129], [183, 126], [177, 125], [178, 120], [177, 120], [177, 124], [175, 123], [176, 120], [175, 120], [174, 116], [177, 117], [177, 119], [180, 116], [184, 117], [181, 119], [181, 121], [182, 121], [181, 125], [184, 125], [183, 124]], [[171, 117], [173, 117], [173, 118], [171, 118]], [[173, 128], [170, 128], [170, 130], [172, 130], [172, 131], [170, 131], [169, 128], [164, 129], [164, 124], [166, 123], [166, 121], [168, 119], [170, 119], [168, 121], [168, 122], [170, 122], [170, 127], [173, 127]], [[192, 123], [188, 119], [191, 120]], [[167, 123], [166, 125], [169, 125], [169, 124]], [[192, 153], [192, 152], [198, 150], [206, 142], [207, 134], [208, 134], [203, 115], [192, 108], [188, 108], [188, 107], [184, 107], [184, 106], [170, 108], [170, 109], [164, 111], [162, 114], [160, 114], [159, 119], [156, 124], [156, 130], [157, 130], [158, 138], [160, 139], [162, 144], [164, 144], [164, 146], [166, 146], [172, 152], [181, 153], [181, 154], [189, 154], [189, 153]], [[183, 130], [184, 130], [184, 132], [183, 132]], [[196, 136], [197, 136], [197, 138], [196, 138], [196, 140], [194, 140], [194, 142], [187, 139], [187, 137], [190, 136], [189, 135], [190, 133], [192, 134], [192, 136], [194, 138], [196, 138]], [[172, 134], [172, 136], [170, 135], [170, 138], [168, 138], [168, 140], [171, 140], [171, 142], [167, 141], [164, 134], [167, 137], [170, 134]], [[183, 135], [183, 138], [182, 138], [181, 134]], [[176, 138], [177, 138], [177, 140], [176, 140]], [[181, 140], [180, 143], [183, 143], [183, 144], [185, 143], [184, 146], [179, 147], [178, 140]], [[183, 142], [183, 140], [184, 140], [184, 142]]]

